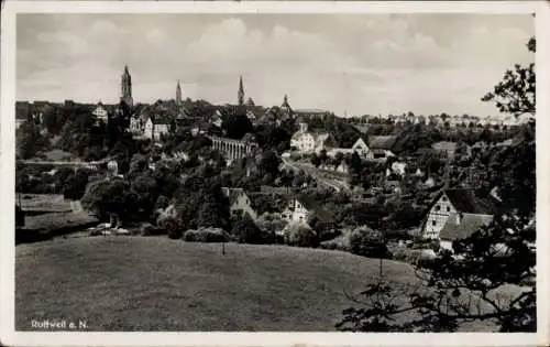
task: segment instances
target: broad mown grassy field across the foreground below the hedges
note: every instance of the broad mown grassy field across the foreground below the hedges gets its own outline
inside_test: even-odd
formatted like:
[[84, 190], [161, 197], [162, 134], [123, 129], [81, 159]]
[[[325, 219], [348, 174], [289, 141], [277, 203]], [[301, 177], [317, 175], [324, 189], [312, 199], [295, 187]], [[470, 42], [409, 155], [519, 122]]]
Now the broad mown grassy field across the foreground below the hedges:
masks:
[[[385, 274], [415, 280], [405, 263]], [[16, 247], [16, 329], [86, 319], [90, 330], [333, 330], [378, 260], [284, 246], [167, 238], [55, 239]]]

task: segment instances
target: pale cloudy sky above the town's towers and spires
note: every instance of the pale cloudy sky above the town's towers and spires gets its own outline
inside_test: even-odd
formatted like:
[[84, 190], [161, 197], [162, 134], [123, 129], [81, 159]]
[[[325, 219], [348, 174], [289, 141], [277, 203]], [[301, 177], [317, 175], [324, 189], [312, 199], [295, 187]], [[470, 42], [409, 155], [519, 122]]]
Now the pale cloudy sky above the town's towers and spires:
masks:
[[18, 14], [18, 100], [246, 98], [337, 115], [498, 115], [481, 101], [535, 61], [528, 14]]

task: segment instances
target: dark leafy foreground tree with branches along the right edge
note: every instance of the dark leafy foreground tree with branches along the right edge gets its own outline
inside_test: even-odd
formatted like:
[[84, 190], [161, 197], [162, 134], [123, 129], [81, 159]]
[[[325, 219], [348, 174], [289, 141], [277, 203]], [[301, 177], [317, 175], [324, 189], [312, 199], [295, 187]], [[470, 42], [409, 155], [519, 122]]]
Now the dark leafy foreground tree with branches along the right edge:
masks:
[[[535, 51], [534, 40], [528, 47]], [[494, 101], [501, 111], [516, 117], [534, 113], [534, 65], [516, 66], [516, 72], [507, 72], [494, 93], [483, 99]], [[528, 127], [534, 128], [535, 122]], [[381, 278], [359, 295], [366, 302], [355, 301], [359, 306], [343, 312], [344, 317], [337, 328], [352, 332], [453, 332], [463, 323], [490, 321], [499, 332], [536, 332], [536, 152], [529, 133], [527, 131], [514, 149], [497, 154], [493, 167], [493, 171], [502, 172], [493, 180], [506, 196], [503, 198], [504, 210], [497, 213], [487, 226], [455, 240], [452, 251], [443, 250], [431, 261], [417, 264], [421, 290], [405, 289], [404, 295]], [[517, 165], [510, 160], [518, 162]], [[510, 286], [519, 290], [510, 291]], [[398, 303], [397, 297], [403, 296], [407, 299]], [[413, 319], [397, 318], [404, 314]]]

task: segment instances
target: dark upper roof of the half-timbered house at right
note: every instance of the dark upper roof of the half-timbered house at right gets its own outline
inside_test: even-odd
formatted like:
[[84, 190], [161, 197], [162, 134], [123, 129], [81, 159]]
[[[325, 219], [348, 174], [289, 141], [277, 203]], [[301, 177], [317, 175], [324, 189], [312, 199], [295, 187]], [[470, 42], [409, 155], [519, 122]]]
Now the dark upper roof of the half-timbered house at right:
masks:
[[458, 212], [463, 214], [494, 215], [497, 200], [491, 195], [480, 196], [480, 192], [468, 188], [454, 188], [443, 192]]

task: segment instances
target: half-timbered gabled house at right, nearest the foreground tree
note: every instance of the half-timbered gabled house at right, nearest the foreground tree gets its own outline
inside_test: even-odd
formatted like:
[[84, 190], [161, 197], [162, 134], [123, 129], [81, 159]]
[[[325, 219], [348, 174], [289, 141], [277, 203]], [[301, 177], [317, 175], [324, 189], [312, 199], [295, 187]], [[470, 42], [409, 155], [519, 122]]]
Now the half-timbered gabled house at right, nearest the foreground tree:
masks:
[[466, 238], [491, 223], [498, 200], [492, 195], [481, 196], [475, 189], [446, 189], [432, 204], [424, 237], [439, 239], [441, 247], [452, 248], [452, 241]]

